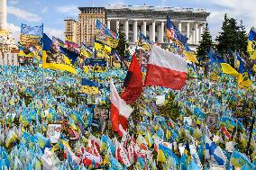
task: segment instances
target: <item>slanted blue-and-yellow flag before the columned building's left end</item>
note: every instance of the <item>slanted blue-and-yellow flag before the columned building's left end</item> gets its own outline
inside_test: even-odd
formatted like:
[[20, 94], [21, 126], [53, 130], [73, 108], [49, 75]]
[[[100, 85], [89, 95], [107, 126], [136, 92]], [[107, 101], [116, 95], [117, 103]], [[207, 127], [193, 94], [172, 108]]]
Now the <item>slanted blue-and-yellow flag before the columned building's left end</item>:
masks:
[[111, 31], [102, 24], [99, 20], [96, 21], [96, 40], [100, 41], [111, 48], [116, 48], [118, 45], [118, 33]]

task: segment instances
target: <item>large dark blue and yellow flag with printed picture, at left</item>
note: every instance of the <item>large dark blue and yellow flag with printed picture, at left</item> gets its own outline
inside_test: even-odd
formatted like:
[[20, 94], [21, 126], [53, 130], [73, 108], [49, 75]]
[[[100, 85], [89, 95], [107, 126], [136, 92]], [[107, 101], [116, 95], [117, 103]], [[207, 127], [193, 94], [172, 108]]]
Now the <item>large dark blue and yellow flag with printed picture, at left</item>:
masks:
[[77, 74], [76, 69], [72, 65], [71, 59], [64, 55], [64, 52], [59, 48], [58, 44], [53, 43], [52, 40], [43, 34], [42, 56], [44, 68], [52, 68], [59, 70], [66, 70], [70, 73]]

